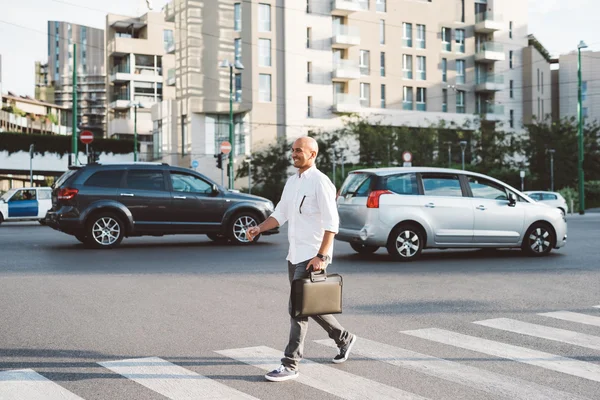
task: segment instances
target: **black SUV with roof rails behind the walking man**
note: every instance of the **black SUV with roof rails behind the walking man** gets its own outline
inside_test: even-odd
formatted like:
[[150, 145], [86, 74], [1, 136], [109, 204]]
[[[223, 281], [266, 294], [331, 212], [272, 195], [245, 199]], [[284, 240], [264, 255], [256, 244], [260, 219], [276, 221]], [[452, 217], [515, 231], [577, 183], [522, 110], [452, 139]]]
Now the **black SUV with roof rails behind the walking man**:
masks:
[[[160, 163], [69, 167], [52, 189], [46, 223], [96, 248], [115, 247], [126, 236], [169, 234], [247, 244], [246, 228], [273, 212], [265, 198]], [[278, 230], [263, 234], [274, 233]]]

